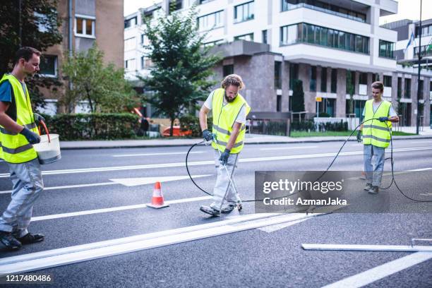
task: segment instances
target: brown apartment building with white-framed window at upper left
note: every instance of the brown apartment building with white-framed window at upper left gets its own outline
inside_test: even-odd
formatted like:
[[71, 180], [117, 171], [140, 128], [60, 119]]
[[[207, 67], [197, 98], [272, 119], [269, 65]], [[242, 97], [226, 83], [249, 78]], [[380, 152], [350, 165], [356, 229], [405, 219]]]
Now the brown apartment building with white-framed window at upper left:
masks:
[[[49, 47], [44, 52], [40, 65], [40, 74], [44, 77], [58, 78], [64, 82], [61, 64], [69, 51], [85, 52], [96, 42], [104, 52], [104, 63], [114, 63], [122, 68], [124, 65], [123, 41], [123, 0], [60, 0], [59, 18], [62, 19], [61, 32], [63, 42]], [[43, 28], [42, 28], [43, 29]], [[64, 107], [57, 105], [59, 97], [64, 95], [64, 87], [57, 94], [48, 91], [46, 107], [41, 112], [56, 114], [64, 112]], [[81, 103], [75, 112], [85, 112], [86, 105]]]

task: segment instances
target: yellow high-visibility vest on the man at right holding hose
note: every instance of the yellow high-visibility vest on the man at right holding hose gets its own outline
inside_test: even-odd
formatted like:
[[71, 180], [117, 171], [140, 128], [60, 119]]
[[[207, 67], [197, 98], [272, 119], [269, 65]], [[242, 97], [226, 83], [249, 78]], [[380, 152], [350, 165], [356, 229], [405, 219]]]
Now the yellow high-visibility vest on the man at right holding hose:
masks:
[[[376, 112], [373, 113], [373, 99], [366, 101], [364, 106], [364, 121], [368, 119], [376, 119], [380, 117], [388, 117], [388, 112], [392, 104], [388, 101], [383, 100]], [[378, 120], [367, 121], [363, 124], [363, 143], [364, 145], [374, 145], [380, 148], [388, 148], [390, 144], [390, 135], [392, 129], [392, 122], [386, 121], [381, 122]], [[390, 128], [390, 131], [389, 131]]]

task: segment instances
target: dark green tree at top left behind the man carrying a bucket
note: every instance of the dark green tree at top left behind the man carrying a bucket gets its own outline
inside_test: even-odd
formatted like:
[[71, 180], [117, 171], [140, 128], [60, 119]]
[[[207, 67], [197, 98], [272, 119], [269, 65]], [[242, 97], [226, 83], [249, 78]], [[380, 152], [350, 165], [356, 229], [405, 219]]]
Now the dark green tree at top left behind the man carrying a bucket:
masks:
[[[0, 76], [11, 72], [13, 56], [20, 47], [35, 47], [44, 52], [61, 43], [57, 4], [57, 0], [1, 1]], [[59, 80], [38, 76], [27, 82], [33, 106], [44, 105], [40, 88], [56, 91], [61, 86]]]

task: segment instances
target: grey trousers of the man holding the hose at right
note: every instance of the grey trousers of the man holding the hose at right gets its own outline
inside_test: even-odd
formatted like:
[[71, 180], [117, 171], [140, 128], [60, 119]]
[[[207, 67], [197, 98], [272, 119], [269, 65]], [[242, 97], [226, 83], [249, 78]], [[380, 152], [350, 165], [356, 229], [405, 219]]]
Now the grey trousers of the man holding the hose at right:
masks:
[[384, 170], [385, 148], [364, 145], [363, 151], [366, 182], [373, 186], [380, 186]]

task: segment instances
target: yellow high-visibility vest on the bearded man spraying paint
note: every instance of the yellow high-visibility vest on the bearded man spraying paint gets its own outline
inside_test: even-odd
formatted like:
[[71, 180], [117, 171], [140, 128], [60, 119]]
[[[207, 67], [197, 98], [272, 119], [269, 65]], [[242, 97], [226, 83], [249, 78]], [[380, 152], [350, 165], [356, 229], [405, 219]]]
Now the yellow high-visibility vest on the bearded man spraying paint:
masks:
[[[212, 99], [212, 115], [213, 127], [212, 133], [215, 133], [217, 144], [212, 142], [212, 147], [223, 152], [228, 144], [229, 136], [232, 133], [232, 126], [239, 115], [241, 107], [246, 108], [246, 115], [251, 111], [244, 97], [238, 94], [233, 102], [223, 104], [225, 90], [223, 88], [216, 89], [213, 92]], [[234, 147], [231, 150], [232, 154], [239, 153], [244, 146], [244, 135], [246, 133], [245, 124], [241, 125], [239, 136], [236, 138]]]

